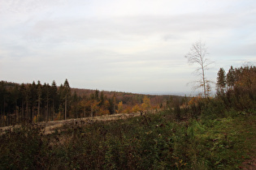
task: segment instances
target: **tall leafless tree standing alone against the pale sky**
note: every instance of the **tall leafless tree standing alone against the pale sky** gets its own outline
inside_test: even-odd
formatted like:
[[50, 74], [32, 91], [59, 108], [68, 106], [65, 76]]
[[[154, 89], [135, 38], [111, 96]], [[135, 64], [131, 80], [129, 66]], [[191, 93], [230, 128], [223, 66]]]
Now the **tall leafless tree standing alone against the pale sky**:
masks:
[[195, 89], [202, 88], [203, 95], [206, 97], [209, 93], [210, 81], [206, 79], [206, 70], [208, 66], [212, 64], [207, 57], [206, 44], [202, 43], [201, 40], [195, 42], [184, 57], [188, 58], [189, 64], [197, 64], [197, 70], [195, 73], [200, 77], [199, 80], [195, 81], [196, 85], [193, 87]]

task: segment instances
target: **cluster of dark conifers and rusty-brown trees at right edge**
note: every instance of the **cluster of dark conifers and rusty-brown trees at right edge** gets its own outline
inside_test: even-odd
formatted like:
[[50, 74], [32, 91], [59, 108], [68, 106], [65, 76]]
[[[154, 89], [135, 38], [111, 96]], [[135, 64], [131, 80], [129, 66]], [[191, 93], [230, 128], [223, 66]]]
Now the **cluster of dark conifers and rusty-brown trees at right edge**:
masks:
[[256, 66], [230, 67], [226, 74], [219, 69], [216, 96], [229, 108], [249, 110], [256, 104]]

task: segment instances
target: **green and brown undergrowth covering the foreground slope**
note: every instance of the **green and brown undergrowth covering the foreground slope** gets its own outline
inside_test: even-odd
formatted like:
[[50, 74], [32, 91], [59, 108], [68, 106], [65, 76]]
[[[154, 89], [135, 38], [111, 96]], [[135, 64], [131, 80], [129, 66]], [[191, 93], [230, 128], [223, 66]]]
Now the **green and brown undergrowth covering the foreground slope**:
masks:
[[236, 169], [255, 156], [256, 114], [175, 121], [149, 114], [44, 134], [23, 125], [0, 137], [2, 169]]

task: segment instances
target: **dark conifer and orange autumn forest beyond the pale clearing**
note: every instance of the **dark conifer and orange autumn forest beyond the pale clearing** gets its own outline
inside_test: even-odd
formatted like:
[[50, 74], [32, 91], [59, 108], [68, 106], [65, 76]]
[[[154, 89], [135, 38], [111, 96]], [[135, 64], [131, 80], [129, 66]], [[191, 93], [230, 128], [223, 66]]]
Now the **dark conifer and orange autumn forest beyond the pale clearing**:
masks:
[[37, 83], [0, 82], [0, 126], [95, 117], [114, 113], [137, 113], [163, 108], [181, 96], [150, 96], [119, 91], [77, 89], [66, 79]]

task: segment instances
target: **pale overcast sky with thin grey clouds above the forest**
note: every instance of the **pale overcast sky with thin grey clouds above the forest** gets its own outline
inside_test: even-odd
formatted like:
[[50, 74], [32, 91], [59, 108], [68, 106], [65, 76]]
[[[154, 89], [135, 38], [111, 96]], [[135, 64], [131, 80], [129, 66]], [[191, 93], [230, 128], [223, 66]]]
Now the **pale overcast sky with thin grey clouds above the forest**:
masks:
[[[0, 80], [104, 91], [193, 91], [202, 40], [219, 68], [256, 63], [255, 0], [0, 0]], [[214, 85], [212, 86], [214, 88]], [[214, 89], [213, 89], [214, 90]]]

